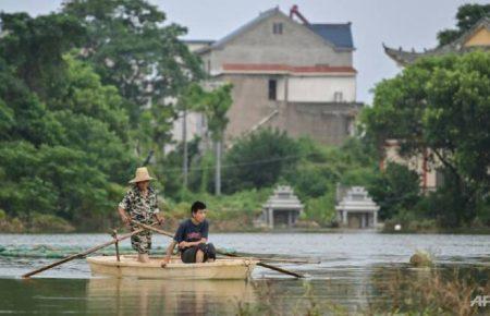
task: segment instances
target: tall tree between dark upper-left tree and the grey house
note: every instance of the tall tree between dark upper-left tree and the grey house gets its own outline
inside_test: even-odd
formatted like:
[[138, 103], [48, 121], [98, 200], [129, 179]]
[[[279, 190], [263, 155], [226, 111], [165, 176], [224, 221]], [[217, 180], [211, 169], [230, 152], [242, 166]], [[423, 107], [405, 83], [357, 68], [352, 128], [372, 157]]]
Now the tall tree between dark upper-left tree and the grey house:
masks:
[[203, 75], [200, 60], [177, 38], [186, 29], [166, 24], [166, 14], [144, 0], [70, 0], [62, 12], [86, 27], [81, 58], [102, 84], [118, 87], [138, 155], [152, 149], [160, 158], [176, 114], [168, 98]]

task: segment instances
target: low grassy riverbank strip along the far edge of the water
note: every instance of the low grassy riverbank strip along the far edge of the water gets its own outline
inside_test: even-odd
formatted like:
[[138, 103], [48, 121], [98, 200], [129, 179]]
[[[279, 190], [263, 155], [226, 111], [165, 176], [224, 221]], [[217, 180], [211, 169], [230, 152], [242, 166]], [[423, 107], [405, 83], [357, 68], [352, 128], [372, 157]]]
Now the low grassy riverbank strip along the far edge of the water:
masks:
[[[172, 211], [166, 211], [166, 223], [163, 229], [173, 232], [179, 222], [188, 218], [185, 208], [177, 208]], [[395, 229], [397, 221], [388, 220], [380, 223], [376, 229], [352, 229], [343, 227], [321, 227], [311, 220], [299, 220], [294, 228], [277, 227], [270, 229], [264, 226], [256, 226], [255, 219], [258, 211], [236, 211], [222, 210], [208, 214], [208, 220], [211, 223], [211, 231], [215, 233], [356, 233], [356, 232], [379, 232], [379, 233], [403, 233], [403, 234], [490, 234], [490, 227], [462, 227], [462, 228], [442, 228], [437, 226], [434, 220], [409, 221], [400, 224], [400, 230]], [[107, 233], [113, 229], [126, 231], [115, 215], [105, 219], [103, 228], [90, 229], [90, 222], [84, 222], [81, 226], [70, 223], [63, 218], [53, 215], [33, 214], [29, 217], [23, 216], [10, 218], [0, 217], [0, 231], [3, 233]], [[100, 222], [93, 227], [102, 227]]]

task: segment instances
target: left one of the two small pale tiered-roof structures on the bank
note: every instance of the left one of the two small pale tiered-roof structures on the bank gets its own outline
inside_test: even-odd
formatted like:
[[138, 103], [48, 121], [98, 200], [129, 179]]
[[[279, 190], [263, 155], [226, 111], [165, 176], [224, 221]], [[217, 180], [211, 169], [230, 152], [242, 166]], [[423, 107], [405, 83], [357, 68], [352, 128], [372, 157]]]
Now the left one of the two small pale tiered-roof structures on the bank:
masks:
[[294, 195], [293, 189], [280, 185], [262, 206], [261, 221], [269, 228], [293, 227], [303, 212], [303, 204]]

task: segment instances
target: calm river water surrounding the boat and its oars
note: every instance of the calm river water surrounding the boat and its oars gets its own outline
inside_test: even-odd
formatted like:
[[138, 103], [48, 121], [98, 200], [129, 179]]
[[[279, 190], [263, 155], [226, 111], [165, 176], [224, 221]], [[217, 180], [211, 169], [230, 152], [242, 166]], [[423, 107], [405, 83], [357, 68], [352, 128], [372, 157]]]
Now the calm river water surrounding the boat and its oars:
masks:
[[[89, 248], [108, 240], [107, 234], [0, 234], [0, 246]], [[433, 256], [433, 269], [476, 268], [480, 279], [487, 278], [490, 270], [487, 235], [217, 233], [210, 242], [240, 252], [307, 257], [321, 263], [281, 265], [307, 275], [303, 280], [257, 267], [248, 281], [169, 281], [93, 277], [85, 259], [77, 259], [22, 280], [21, 275], [54, 259], [0, 256], [0, 314], [358, 314], [387, 300], [377, 288], [379, 280], [390, 282], [393, 274], [425, 274], [424, 268], [408, 265], [416, 251]], [[164, 236], [154, 235], [154, 245], [167, 243]], [[130, 242], [124, 241], [122, 246], [130, 246]], [[490, 306], [481, 308], [480, 314], [490, 314]]]

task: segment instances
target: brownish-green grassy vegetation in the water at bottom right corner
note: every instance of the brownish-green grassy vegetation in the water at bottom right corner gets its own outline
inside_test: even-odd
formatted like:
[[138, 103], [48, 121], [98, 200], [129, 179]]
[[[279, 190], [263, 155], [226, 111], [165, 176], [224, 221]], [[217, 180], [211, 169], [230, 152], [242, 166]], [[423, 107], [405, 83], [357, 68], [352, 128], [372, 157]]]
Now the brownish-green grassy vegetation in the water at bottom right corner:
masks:
[[485, 267], [377, 271], [377, 300], [369, 302], [366, 314], [475, 315], [481, 311], [470, 302], [490, 292], [489, 277]]

